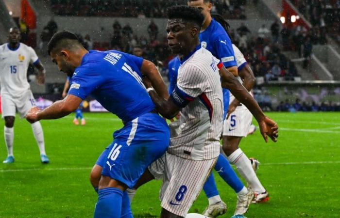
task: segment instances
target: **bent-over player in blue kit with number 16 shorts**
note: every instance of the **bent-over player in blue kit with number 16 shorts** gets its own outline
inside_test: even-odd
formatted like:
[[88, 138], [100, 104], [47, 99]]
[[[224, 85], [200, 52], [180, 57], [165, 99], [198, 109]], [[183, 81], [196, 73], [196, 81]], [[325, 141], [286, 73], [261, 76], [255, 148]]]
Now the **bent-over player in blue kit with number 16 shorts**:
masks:
[[132, 218], [127, 187], [169, 146], [169, 127], [155, 111], [142, 74], [151, 79], [158, 94], [168, 98], [167, 88], [152, 62], [120, 51], [87, 51], [76, 35], [61, 31], [49, 42], [49, 55], [60, 71], [71, 77], [68, 95], [50, 107], [32, 108], [30, 123], [58, 119], [77, 109], [91, 94], [124, 126], [113, 133], [103, 151], [95, 218]]

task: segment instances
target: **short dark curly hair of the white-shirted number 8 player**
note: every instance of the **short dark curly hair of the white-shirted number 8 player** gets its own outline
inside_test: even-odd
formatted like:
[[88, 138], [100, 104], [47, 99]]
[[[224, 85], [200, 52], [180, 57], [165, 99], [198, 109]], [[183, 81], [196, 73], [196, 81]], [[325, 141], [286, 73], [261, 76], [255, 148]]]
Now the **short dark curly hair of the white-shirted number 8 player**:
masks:
[[168, 9], [168, 19], [183, 19], [197, 24], [200, 28], [203, 25], [204, 16], [196, 7], [187, 5], [176, 5]]

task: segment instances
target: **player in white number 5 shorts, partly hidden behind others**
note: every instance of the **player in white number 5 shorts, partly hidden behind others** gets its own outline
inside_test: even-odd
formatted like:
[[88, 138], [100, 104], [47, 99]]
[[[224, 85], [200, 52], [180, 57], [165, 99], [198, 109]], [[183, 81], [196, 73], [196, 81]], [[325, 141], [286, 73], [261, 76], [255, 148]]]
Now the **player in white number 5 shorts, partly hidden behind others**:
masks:
[[[243, 54], [233, 44], [236, 61], [238, 64], [238, 80], [243, 82], [243, 86], [251, 91], [255, 78]], [[254, 191], [254, 203], [266, 202], [269, 200], [269, 194], [258, 180], [256, 173], [251, 164], [251, 160], [238, 147], [242, 137], [246, 137], [252, 123], [252, 113], [230, 93], [230, 104], [228, 115], [223, 123], [223, 151], [226, 154], [229, 162], [236, 166], [240, 175], [246, 180]], [[254, 160], [256, 161], [256, 160]]]

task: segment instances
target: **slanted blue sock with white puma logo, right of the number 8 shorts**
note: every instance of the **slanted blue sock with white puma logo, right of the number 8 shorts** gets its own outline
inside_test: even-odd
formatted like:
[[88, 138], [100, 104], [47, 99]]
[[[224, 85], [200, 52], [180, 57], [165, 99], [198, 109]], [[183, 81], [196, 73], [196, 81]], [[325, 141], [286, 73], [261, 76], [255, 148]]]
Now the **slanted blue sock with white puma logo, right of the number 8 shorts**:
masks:
[[219, 173], [222, 179], [234, 189], [236, 193], [238, 193], [244, 187], [243, 183], [238, 178], [225, 156], [220, 154], [215, 165], [215, 170]]

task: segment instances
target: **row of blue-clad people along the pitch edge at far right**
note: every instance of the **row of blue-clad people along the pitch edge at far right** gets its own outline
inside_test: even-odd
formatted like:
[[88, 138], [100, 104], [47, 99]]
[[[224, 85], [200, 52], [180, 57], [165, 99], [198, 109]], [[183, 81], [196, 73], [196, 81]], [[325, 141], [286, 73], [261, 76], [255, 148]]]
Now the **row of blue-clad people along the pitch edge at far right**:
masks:
[[289, 100], [281, 101], [280, 104], [276, 107], [276, 111], [289, 111], [289, 112], [296, 112], [296, 111], [340, 111], [340, 103], [333, 103], [323, 101], [320, 104], [312, 102], [302, 102], [300, 103], [300, 99], [296, 99], [295, 103], [290, 104]]

